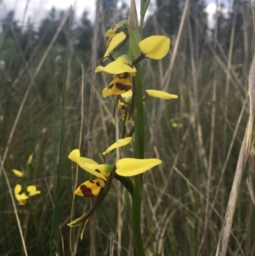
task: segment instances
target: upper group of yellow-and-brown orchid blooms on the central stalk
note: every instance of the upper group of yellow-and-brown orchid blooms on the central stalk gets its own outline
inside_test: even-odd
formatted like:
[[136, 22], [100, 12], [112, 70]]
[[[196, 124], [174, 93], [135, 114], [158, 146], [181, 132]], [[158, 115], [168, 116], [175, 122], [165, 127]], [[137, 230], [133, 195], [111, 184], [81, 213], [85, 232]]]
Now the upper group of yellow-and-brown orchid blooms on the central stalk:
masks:
[[[122, 95], [122, 97], [118, 97], [118, 99], [120, 99], [118, 106], [121, 105], [121, 109], [126, 110], [125, 113], [122, 113], [122, 120], [126, 120], [127, 108], [132, 99], [133, 77], [136, 76], [137, 72], [135, 65], [144, 58], [160, 60], [166, 56], [170, 48], [170, 39], [168, 37], [150, 36], [139, 42], [140, 53], [138, 56], [122, 54], [115, 58], [116, 51], [127, 41], [127, 31], [129, 31], [127, 27], [127, 20], [122, 20], [105, 33], [105, 37], [108, 37], [108, 48], [106, 49], [104, 57], [105, 60], [109, 59], [112, 61], [105, 66], [99, 65], [95, 70], [95, 72], [105, 71], [108, 74], [115, 75], [108, 87], [103, 88], [102, 95], [104, 98], [109, 95]], [[163, 100], [178, 98], [175, 94], [168, 94], [167, 92], [158, 90], [147, 90], [144, 95], [144, 100], [146, 100], [148, 96]], [[128, 98], [129, 100], [124, 100], [124, 98]], [[129, 115], [128, 120], [133, 120], [132, 113]]]

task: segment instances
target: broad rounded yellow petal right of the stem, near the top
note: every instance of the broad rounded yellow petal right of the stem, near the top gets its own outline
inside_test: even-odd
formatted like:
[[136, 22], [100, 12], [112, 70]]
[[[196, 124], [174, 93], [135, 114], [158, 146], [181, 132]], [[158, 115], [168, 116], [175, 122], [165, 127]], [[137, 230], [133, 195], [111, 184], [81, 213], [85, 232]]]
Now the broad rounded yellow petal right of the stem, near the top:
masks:
[[165, 57], [170, 48], [170, 39], [165, 36], [146, 37], [139, 43], [141, 52], [150, 59], [160, 60]]

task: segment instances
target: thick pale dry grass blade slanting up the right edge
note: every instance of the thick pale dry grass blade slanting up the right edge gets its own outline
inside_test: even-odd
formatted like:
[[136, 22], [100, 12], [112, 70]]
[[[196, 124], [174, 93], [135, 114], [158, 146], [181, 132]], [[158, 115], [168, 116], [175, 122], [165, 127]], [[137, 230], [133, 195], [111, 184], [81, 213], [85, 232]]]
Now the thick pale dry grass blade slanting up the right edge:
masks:
[[221, 230], [221, 234], [218, 240], [218, 248], [216, 255], [224, 256], [227, 253], [229, 236], [231, 233], [231, 227], [233, 223], [235, 206], [237, 196], [239, 194], [241, 178], [246, 168], [246, 160], [250, 151], [252, 143], [252, 131], [254, 127], [254, 115], [255, 115], [255, 55], [252, 60], [252, 67], [249, 76], [249, 98], [250, 98], [250, 116], [246, 126], [246, 133], [242, 140], [241, 151], [238, 157], [237, 166], [235, 169], [235, 178], [233, 181], [232, 189], [229, 196], [229, 203], [225, 213], [224, 224]]

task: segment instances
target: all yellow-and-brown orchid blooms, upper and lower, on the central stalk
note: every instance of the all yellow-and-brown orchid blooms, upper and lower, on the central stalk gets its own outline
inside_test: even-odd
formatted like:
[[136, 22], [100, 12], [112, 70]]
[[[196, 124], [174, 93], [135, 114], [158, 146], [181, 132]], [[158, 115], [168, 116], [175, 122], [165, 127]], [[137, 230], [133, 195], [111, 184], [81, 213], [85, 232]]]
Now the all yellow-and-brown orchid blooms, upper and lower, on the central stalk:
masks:
[[[170, 39], [165, 36], [151, 36], [144, 38], [139, 43], [139, 53], [136, 56], [132, 54], [119, 54], [119, 49], [127, 42], [128, 37], [132, 36], [131, 28], [128, 25], [127, 20], [122, 20], [116, 26], [112, 26], [109, 31], [105, 33], [105, 37], [108, 37], [107, 46], [105, 51], [104, 60], [110, 60], [107, 65], [99, 65], [96, 67], [95, 72], [104, 71], [110, 75], [114, 75], [113, 79], [109, 83], [108, 87], [103, 88], [103, 98], [110, 95], [116, 96], [116, 107], [123, 111], [121, 119], [126, 124], [127, 121], [133, 120], [133, 111], [135, 110], [135, 100], [141, 99], [143, 101], [150, 97], [156, 97], [163, 100], [177, 99], [175, 94], [168, 94], [159, 90], [147, 89], [138, 98], [135, 94], [138, 88], [135, 84], [135, 78], [139, 73], [137, 64], [144, 58], [150, 58], [153, 60], [160, 60], [165, 57], [170, 48]], [[141, 86], [141, 85], [140, 85]], [[143, 99], [142, 99], [143, 97]], [[142, 102], [142, 101], [140, 101]], [[137, 124], [135, 124], [136, 126]], [[124, 133], [125, 134], [125, 133]], [[75, 194], [77, 196], [98, 196], [93, 208], [87, 213], [82, 215], [79, 219], [71, 221], [70, 226], [80, 225], [82, 221], [89, 218], [91, 213], [99, 206], [107, 194], [107, 191], [111, 185], [113, 178], [119, 179], [127, 190], [133, 195], [135, 192], [135, 181], [129, 177], [138, 174], [143, 174], [150, 168], [155, 167], [161, 163], [160, 159], [138, 159], [138, 158], [122, 158], [118, 159], [113, 164], [105, 162], [105, 155], [112, 150], [127, 145], [131, 142], [132, 137], [126, 137], [124, 139], [118, 139], [116, 143], [112, 144], [102, 154], [104, 156], [104, 163], [95, 162], [93, 159], [81, 156], [81, 152], [78, 149], [71, 151], [69, 159], [72, 162], [76, 162], [77, 165], [89, 174], [95, 176], [94, 179], [86, 180], [77, 187]], [[137, 140], [136, 140], [137, 141]], [[142, 154], [143, 155], [143, 154]], [[121, 178], [120, 178], [121, 177]]]

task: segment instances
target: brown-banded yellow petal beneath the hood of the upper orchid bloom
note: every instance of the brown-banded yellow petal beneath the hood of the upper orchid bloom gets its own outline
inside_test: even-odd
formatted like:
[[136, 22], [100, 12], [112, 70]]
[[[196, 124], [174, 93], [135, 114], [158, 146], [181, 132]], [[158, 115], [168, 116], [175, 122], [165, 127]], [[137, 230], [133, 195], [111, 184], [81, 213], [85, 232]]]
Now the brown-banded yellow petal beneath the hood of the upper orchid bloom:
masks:
[[120, 95], [132, 88], [133, 85], [130, 80], [129, 73], [126, 72], [116, 75], [116, 77], [114, 77], [114, 79], [110, 82], [108, 88], [103, 89], [102, 95], [103, 98], [106, 98], [109, 95]]

